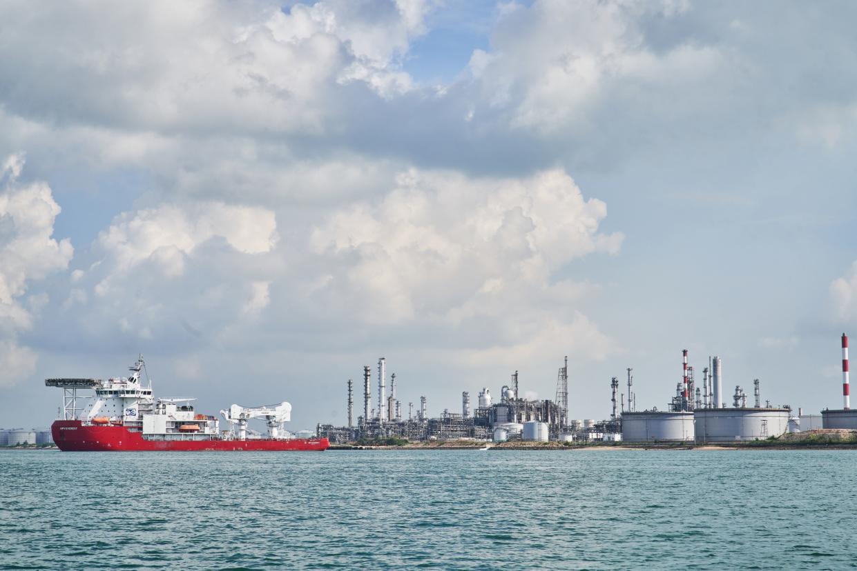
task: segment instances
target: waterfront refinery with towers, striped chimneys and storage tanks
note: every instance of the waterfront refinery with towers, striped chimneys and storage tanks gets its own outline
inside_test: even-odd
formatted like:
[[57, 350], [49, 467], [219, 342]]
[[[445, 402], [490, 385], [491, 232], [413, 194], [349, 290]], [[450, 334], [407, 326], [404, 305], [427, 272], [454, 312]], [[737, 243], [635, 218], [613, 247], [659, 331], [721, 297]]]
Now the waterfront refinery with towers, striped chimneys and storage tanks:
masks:
[[[363, 366], [363, 411], [355, 418], [354, 383], [347, 388], [347, 424], [317, 425], [319, 437], [331, 443], [371, 443], [402, 438], [411, 442], [470, 439], [506, 442], [508, 440], [560, 442], [686, 442], [734, 443], [779, 437], [786, 432], [818, 428], [857, 430], [857, 411], [852, 411], [848, 392], [848, 336], [842, 334], [841, 409], [825, 409], [819, 415], [786, 404], [776, 406], [762, 400], [759, 379], [752, 381], [752, 401], [748, 390], [734, 385], [734, 392], [724, 392], [723, 361], [710, 356], [702, 369], [698, 384], [694, 368], [688, 364], [688, 352], [682, 351], [681, 380], [674, 396], [663, 410], [656, 407], [638, 410], [633, 390], [632, 368], [626, 369], [626, 392], [620, 394], [619, 378], [610, 379], [612, 413], [608, 419], [569, 419], [568, 358], [559, 368], [554, 400], [532, 400], [521, 397], [518, 372], [499, 392], [490, 387], [478, 390], [475, 406], [470, 391], [461, 394], [460, 412], [444, 409], [429, 416], [428, 402], [421, 396], [415, 403], [403, 402], [396, 395], [396, 374], [387, 375], [387, 360], [378, 360], [375, 372]], [[373, 401], [372, 381], [376, 396]], [[389, 391], [387, 388], [389, 387]]]

